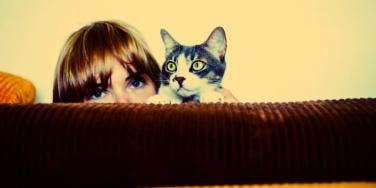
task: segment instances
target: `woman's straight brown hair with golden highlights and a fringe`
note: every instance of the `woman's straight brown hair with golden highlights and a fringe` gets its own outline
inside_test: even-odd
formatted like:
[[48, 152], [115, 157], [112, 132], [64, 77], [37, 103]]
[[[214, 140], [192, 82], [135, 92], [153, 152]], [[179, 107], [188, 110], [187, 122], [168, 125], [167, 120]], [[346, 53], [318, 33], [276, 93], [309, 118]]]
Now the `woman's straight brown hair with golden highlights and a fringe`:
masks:
[[55, 70], [53, 102], [83, 102], [98, 77], [111, 76], [117, 60], [130, 74], [147, 75], [159, 87], [159, 66], [141, 34], [119, 21], [97, 21], [74, 32], [63, 46]]

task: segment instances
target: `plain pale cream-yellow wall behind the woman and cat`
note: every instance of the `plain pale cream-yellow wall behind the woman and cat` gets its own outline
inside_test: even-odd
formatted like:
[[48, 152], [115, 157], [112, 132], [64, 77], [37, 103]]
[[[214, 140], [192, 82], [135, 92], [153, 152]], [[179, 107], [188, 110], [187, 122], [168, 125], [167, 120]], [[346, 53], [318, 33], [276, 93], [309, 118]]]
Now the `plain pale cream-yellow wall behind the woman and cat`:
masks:
[[376, 1], [0, 0], [0, 70], [34, 82], [50, 102], [59, 50], [95, 20], [122, 20], [162, 62], [160, 28], [183, 44], [223, 26], [224, 86], [243, 102], [376, 97]]

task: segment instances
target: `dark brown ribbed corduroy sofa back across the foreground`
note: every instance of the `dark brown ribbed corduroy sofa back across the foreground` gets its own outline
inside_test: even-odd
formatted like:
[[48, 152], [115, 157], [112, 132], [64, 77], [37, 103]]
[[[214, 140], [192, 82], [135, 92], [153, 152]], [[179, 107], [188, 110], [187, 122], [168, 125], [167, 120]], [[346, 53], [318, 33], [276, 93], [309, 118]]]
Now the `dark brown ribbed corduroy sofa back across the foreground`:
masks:
[[3, 104], [0, 151], [11, 187], [375, 181], [376, 99]]

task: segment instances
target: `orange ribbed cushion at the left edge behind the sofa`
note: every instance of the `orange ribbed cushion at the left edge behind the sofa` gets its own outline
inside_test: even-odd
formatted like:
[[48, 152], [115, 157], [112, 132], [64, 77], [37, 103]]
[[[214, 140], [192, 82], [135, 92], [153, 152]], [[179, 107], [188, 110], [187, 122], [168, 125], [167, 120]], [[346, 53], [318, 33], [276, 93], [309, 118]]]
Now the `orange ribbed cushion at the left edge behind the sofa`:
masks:
[[0, 103], [33, 103], [33, 83], [19, 76], [0, 71]]

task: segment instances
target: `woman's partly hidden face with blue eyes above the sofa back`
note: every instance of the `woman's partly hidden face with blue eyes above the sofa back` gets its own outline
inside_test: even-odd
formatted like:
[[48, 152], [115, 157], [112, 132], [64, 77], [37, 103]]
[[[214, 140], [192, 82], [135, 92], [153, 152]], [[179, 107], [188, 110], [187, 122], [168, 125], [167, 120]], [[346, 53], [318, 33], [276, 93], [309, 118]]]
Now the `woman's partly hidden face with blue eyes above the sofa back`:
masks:
[[134, 67], [130, 66], [130, 69], [136, 74], [129, 74], [119, 62], [115, 61], [108, 80], [108, 88], [98, 88], [97, 92], [93, 93], [85, 102], [145, 103], [150, 96], [156, 94], [156, 86], [146, 74], [137, 76]]

